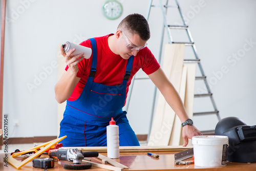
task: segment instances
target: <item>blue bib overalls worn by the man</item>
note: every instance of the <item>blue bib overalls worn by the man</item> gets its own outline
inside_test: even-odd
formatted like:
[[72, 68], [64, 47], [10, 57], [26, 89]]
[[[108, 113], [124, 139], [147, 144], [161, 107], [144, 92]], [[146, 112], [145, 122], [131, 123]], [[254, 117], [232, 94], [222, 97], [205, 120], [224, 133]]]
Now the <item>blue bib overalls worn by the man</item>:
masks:
[[93, 82], [97, 66], [97, 47], [95, 39], [90, 40], [93, 48], [90, 75], [78, 99], [67, 100], [59, 135], [67, 135], [67, 138], [61, 142], [63, 146], [106, 146], [106, 126], [113, 117], [119, 126], [119, 145], [137, 146], [138, 139], [126, 118], [126, 112], [122, 111], [134, 56], [128, 59], [120, 86]]

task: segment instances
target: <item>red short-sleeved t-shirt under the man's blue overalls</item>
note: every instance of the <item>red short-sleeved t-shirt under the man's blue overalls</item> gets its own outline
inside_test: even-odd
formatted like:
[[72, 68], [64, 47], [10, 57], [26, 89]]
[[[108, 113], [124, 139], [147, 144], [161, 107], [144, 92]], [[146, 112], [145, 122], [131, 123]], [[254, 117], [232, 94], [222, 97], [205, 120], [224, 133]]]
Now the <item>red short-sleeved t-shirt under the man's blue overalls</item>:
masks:
[[[107, 86], [117, 86], [122, 84], [128, 60], [123, 59], [120, 55], [116, 55], [110, 50], [108, 45], [108, 37], [111, 35], [113, 34], [102, 37], [95, 37], [97, 45], [97, 67], [93, 81]], [[92, 44], [89, 39], [81, 42], [80, 45], [92, 48]], [[81, 79], [77, 83], [72, 95], [68, 100], [73, 101], [80, 96], [88, 80], [91, 65], [92, 56], [89, 59], [83, 59], [78, 63], [79, 71], [76, 76]], [[66, 71], [68, 68], [69, 67], [67, 66]], [[147, 47], [140, 50], [137, 53], [137, 56], [134, 57], [131, 76], [127, 82], [126, 97], [129, 86], [131, 84], [131, 80], [140, 68], [147, 75], [152, 74], [160, 68], [156, 58]]]

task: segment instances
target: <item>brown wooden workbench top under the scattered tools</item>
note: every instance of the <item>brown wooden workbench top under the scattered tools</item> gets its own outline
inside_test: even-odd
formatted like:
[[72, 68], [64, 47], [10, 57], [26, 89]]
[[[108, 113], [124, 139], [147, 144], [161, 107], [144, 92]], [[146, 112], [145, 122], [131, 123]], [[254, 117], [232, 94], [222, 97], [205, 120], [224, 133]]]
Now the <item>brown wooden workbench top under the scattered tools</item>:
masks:
[[[140, 151], [140, 150], [139, 150]], [[149, 151], [151, 152], [151, 151]], [[247, 170], [256, 170], [256, 163], [234, 163], [234, 162], [228, 162], [226, 166], [222, 167], [199, 167], [195, 166], [194, 164], [189, 165], [175, 165], [174, 161], [174, 154], [178, 153], [179, 151], [158, 151], [153, 152], [157, 153], [160, 157], [159, 158], [153, 158], [149, 155], [147, 155], [146, 152], [140, 151], [140, 152], [121, 152], [120, 158], [115, 159], [116, 161], [120, 162], [121, 164], [124, 164], [129, 167], [129, 169], [126, 170], [239, 170], [239, 171], [247, 171]], [[106, 153], [104, 151], [99, 151], [99, 154], [102, 154], [106, 156]], [[0, 170], [17, 170], [14, 168], [10, 163], [8, 163], [8, 167], [4, 166], [3, 158], [5, 154], [0, 154], [1, 160], [0, 160]], [[24, 160], [26, 157], [16, 157], [17, 160]], [[88, 158], [91, 159], [93, 162], [101, 163], [101, 160], [98, 158]], [[190, 160], [190, 159], [188, 159]], [[48, 171], [54, 171], [54, 170], [66, 170], [63, 168], [63, 165], [65, 163], [70, 163], [68, 161], [58, 161], [55, 162], [54, 168], [47, 169]], [[32, 166], [32, 162], [29, 162], [25, 166], [23, 166], [20, 171], [22, 170], [44, 170], [41, 168], [35, 168]], [[88, 170], [107, 170], [102, 169], [98, 167], [92, 167]]]

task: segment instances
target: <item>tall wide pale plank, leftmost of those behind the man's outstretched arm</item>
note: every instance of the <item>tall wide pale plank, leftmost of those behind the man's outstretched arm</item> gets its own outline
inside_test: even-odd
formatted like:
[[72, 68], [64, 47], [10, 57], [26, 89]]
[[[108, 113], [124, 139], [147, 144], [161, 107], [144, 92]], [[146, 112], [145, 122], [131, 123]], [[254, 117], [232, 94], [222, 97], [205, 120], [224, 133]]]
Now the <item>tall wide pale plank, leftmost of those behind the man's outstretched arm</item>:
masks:
[[[184, 51], [184, 44], [168, 44], [165, 46], [162, 68], [177, 91], [180, 88]], [[147, 145], [168, 145], [174, 119], [174, 111], [170, 108], [163, 95], [159, 94]]]

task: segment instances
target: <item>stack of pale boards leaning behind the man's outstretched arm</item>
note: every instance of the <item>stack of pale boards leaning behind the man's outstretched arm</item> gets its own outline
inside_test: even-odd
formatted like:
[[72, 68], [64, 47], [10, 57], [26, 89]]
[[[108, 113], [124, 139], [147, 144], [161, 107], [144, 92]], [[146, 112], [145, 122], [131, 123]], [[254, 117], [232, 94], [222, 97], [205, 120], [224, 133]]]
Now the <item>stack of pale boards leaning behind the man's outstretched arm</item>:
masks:
[[[162, 69], [179, 93], [188, 117], [192, 118], [196, 64], [184, 64], [184, 52], [184, 44], [166, 45]], [[181, 121], [159, 93], [147, 145], [182, 145], [183, 143]]]

